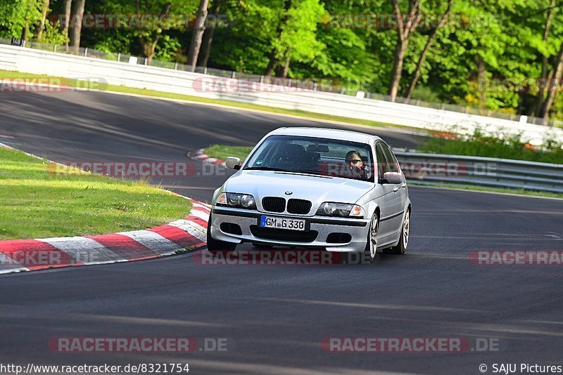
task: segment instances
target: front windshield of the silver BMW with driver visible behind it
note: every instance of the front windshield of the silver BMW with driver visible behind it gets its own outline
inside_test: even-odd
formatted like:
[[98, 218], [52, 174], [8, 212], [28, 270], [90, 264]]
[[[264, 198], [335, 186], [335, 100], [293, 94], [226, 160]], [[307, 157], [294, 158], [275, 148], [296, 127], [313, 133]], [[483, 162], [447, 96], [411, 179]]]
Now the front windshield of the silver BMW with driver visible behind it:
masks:
[[270, 136], [244, 166], [246, 170], [305, 173], [374, 181], [367, 143], [301, 136]]

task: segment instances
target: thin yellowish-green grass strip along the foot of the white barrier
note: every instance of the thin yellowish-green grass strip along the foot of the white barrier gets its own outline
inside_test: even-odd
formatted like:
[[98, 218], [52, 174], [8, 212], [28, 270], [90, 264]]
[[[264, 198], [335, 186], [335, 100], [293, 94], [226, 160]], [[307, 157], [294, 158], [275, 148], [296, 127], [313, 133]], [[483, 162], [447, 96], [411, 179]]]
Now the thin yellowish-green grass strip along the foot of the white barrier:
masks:
[[[393, 125], [393, 124], [386, 124], [379, 121], [369, 121], [369, 120], [362, 120], [362, 119], [353, 119], [350, 117], [340, 117], [340, 116], [332, 116], [330, 114], [322, 114], [322, 113], [315, 113], [315, 112], [308, 112], [302, 110], [286, 110], [283, 108], [275, 108], [275, 107], [268, 107], [266, 105], [256, 105], [256, 104], [248, 104], [248, 103], [238, 103], [231, 100], [221, 100], [221, 99], [210, 99], [210, 98], [201, 98], [199, 96], [190, 96], [190, 95], [183, 95], [177, 93], [166, 93], [164, 91], [156, 91], [156, 90], [148, 90], [146, 88], [133, 88], [127, 86], [118, 86], [112, 84], [99, 84], [96, 82], [89, 82], [89, 81], [82, 81], [76, 79], [65, 79], [61, 77], [52, 77], [43, 74], [31, 74], [31, 73], [20, 73], [20, 72], [11, 72], [8, 70], [0, 70], [0, 79], [25, 79], [25, 78], [53, 78], [53, 79], [62, 79], [65, 85], [73, 86], [73, 87], [81, 87], [81, 88], [94, 88], [96, 90], [101, 91], [115, 91], [119, 93], [132, 93], [137, 95], [146, 95], [146, 96], [156, 96], [158, 98], [167, 98], [167, 99], [175, 99], [175, 100], [189, 100], [191, 102], [198, 102], [198, 103], [211, 103], [211, 104], [220, 104], [220, 105], [228, 105], [230, 107], [238, 107], [248, 110], [260, 110], [265, 112], [272, 112], [272, 113], [279, 113], [279, 114], [290, 114], [292, 116], [298, 117], [309, 117], [312, 119], [319, 119], [319, 120], [329, 120], [329, 121], [339, 121], [344, 122], [347, 124], [360, 124], [360, 125], [367, 125], [367, 126], [393, 126], [396, 128], [405, 128], [409, 129], [408, 126], [401, 126], [401, 125]], [[418, 129], [420, 130], [420, 129]]]

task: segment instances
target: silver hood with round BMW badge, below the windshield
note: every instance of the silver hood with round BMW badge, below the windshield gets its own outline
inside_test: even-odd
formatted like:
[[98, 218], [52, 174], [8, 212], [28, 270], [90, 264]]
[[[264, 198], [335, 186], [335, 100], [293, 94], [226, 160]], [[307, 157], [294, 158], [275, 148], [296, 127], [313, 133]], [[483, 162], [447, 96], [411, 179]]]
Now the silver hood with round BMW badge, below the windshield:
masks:
[[[373, 188], [374, 183], [348, 178], [274, 171], [239, 171], [227, 180], [223, 191], [251, 194], [259, 208], [263, 197], [307, 199], [312, 202], [312, 208], [316, 211], [322, 202], [358, 202]], [[285, 194], [290, 191], [291, 195]]]

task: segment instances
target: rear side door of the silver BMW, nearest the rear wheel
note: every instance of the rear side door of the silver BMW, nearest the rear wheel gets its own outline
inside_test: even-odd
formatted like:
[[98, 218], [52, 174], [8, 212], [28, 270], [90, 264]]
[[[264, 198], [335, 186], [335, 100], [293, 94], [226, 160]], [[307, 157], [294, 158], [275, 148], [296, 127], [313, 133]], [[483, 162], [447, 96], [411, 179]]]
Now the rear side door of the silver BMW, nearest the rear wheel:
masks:
[[[380, 142], [380, 145], [386, 159], [386, 172], [400, 173], [399, 163], [391, 148], [384, 142]], [[403, 213], [407, 201], [406, 183], [403, 178], [400, 183], [385, 183], [384, 186], [387, 186], [391, 193], [386, 196], [389, 210], [386, 216], [381, 215], [381, 223], [385, 223], [385, 226], [388, 227], [389, 235], [394, 235], [400, 231], [401, 225], [403, 225]]]

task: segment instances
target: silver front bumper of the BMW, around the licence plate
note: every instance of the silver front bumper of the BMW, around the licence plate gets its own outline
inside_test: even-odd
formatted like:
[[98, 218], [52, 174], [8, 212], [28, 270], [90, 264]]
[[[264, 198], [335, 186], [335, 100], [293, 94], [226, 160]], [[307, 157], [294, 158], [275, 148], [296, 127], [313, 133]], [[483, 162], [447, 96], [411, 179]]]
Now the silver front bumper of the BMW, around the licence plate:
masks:
[[[277, 232], [272, 231], [274, 233], [268, 232], [265, 234], [264, 232], [267, 231], [258, 227], [260, 216], [262, 215], [305, 219], [305, 232], [275, 230]], [[239, 225], [240, 234], [222, 230], [223, 223]], [[255, 242], [258, 244], [292, 246], [306, 249], [322, 248], [328, 251], [359, 252], [365, 249], [369, 219], [298, 216], [214, 206], [210, 225], [211, 237], [224, 242], [237, 244], [241, 242]], [[279, 235], [276, 233], [279, 233]], [[331, 233], [346, 233], [350, 235], [351, 239], [348, 242], [342, 243], [327, 242], [327, 237]], [[301, 238], [291, 238], [293, 235]]]

